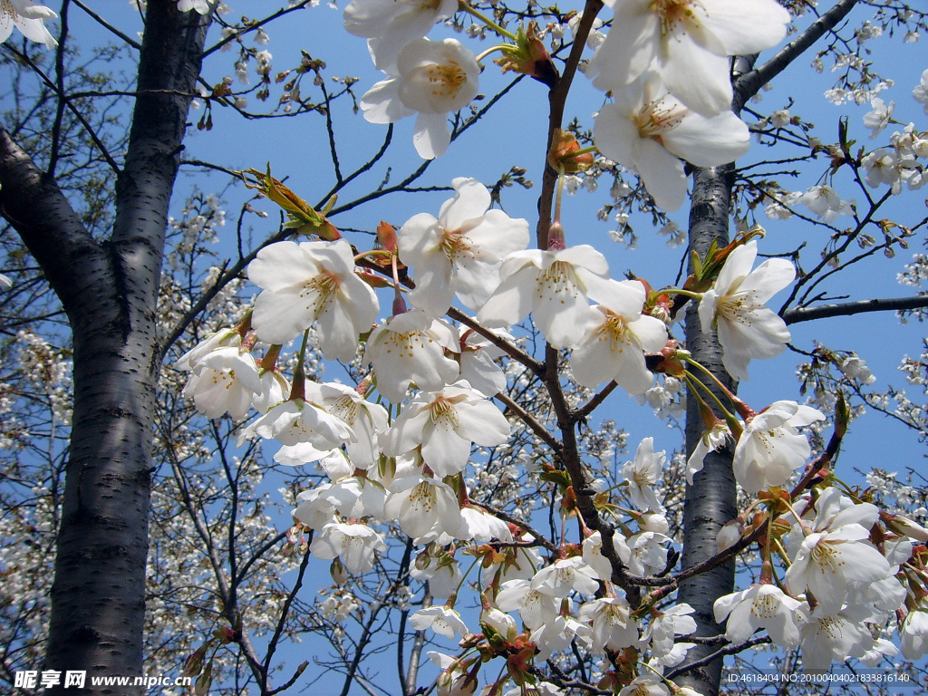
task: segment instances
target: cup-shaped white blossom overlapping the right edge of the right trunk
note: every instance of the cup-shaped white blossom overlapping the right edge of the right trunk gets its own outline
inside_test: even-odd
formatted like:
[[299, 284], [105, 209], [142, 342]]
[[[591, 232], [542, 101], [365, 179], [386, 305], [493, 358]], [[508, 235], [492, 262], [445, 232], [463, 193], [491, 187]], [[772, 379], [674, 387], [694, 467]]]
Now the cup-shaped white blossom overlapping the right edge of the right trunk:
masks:
[[754, 416], [735, 445], [735, 480], [748, 493], [782, 485], [806, 463], [812, 450], [806, 435], [796, 429], [824, 420], [811, 406], [777, 401]]

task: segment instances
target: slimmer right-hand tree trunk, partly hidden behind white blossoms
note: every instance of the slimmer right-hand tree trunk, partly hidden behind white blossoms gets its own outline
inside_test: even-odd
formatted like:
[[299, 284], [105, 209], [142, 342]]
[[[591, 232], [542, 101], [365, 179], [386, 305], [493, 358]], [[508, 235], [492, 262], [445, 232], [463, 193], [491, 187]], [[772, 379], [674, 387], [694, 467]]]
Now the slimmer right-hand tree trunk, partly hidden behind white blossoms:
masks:
[[[696, 168], [693, 172], [693, 202], [690, 209], [690, 249], [704, 256], [714, 239], [718, 246], [728, 243], [728, 217], [731, 209], [731, 179], [734, 165]], [[690, 273], [692, 272], [690, 268]], [[735, 383], [725, 367], [722, 367], [722, 349], [715, 332], [703, 333], [697, 303], [687, 309], [687, 349], [693, 358], [707, 367], [729, 389]], [[703, 379], [703, 381], [708, 381]], [[725, 398], [715, 385], [713, 392], [724, 403]], [[699, 413], [696, 398], [690, 393], [687, 400], [687, 455], [689, 456], [702, 437], [705, 426]], [[690, 568], [715, 555], [715, 537], [722, 525], [734, 519], [735, 477], [731, 470], [732, 450], [726, 448], [710, 453], [699, 473], [693, 476], [693, 484], [687, 486], [686, 502], [683, 507], [683, 568]], [[728, 561], [708, 573], [691, 577], [680, 585], [678, 599], [695, 610], [694, 636], [717, 636], [722, 631], [715, 624], [713, 604], [715, 599], [734, 591], [735, 561]], [[697, 645], [687, 653], [685, 664], [696, 662], [718, 649], [717, 646]], [[722, 673], [722, 660], [715, 660], [704, 667], [693, 669], [677, 679], [681, 685], [689, 686], [703, 694], [718, 693]]]

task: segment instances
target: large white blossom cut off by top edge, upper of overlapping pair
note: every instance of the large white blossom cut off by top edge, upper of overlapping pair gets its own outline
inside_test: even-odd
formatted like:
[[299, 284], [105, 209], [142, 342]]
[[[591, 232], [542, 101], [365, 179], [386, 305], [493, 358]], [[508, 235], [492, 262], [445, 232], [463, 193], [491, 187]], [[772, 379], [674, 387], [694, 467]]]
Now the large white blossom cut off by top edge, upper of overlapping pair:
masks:
[[776, 0], [609, 0], [607, 5], [615, 16], [586, 72], [593, 84], [614, 90], [654, 70], [680, 101], [706, 116], [731, 109], [726, 57], [779, 44], [790, 22]]

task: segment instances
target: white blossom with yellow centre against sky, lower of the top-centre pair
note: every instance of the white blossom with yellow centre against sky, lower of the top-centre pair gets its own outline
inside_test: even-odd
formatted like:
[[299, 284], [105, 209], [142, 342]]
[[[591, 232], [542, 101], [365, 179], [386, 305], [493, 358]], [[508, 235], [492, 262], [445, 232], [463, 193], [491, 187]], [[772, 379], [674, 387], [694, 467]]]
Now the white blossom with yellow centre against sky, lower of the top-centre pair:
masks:
[[448, 112], [463, 109], [477, 96], [480, 66], [473, 53], [455, 39], [416, 39], [384, 71], [389, 79], [361, 97], [364, 118], [393, 123], [418, 112], [412, 141], [419, 157], [444, 155], [451, 142]]

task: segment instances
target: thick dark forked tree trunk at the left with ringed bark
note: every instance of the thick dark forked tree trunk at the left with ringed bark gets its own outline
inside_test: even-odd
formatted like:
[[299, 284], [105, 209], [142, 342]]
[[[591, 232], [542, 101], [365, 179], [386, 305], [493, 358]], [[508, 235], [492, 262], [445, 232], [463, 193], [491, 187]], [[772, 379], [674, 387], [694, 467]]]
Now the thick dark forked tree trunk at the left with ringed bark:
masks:
[[[149, 0], [132, 129], [106, 240], [0, 131], [0, 205], [71, 322], [74, 413], [44, 669], [142, 674], [155, 303], [168, 204], [208, 18]], [[63, 679], [62, 679], [63, 681]], [[48, 694], [75, 694], [63, 684]]]

